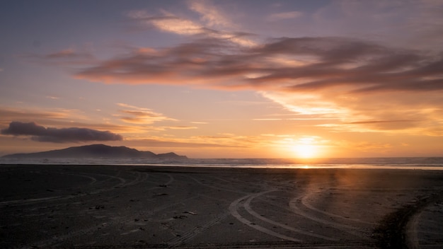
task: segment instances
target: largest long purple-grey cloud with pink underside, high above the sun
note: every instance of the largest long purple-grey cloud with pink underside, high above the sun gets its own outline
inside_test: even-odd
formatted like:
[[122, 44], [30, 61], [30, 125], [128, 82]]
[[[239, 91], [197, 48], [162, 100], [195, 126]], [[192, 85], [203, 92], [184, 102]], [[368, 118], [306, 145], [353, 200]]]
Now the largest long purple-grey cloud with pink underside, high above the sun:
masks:
[[243, 50], [222, 40], [195, 40], [156, 52], [132, 51], [85, 68], [76, 77], [285, 92], [443, 89], [443, 53], [427, 55], [344, 37], [284, 37]]

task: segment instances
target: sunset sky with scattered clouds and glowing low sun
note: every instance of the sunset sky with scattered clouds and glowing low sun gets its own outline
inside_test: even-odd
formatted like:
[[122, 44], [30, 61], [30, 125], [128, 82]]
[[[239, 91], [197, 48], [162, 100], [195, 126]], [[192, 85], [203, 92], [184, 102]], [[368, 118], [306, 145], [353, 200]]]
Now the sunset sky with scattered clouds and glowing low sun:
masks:
[[443, 156], [443, 1], [1, 1], [0, 156]]

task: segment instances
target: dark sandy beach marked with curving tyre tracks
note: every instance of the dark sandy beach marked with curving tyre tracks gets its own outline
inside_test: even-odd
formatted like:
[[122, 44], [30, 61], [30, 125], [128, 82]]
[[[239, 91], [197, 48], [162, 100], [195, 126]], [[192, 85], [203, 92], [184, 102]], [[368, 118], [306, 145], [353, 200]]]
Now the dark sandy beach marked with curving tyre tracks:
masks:
[[0, 248], [443, 248], [443, 171], [0, 166]]

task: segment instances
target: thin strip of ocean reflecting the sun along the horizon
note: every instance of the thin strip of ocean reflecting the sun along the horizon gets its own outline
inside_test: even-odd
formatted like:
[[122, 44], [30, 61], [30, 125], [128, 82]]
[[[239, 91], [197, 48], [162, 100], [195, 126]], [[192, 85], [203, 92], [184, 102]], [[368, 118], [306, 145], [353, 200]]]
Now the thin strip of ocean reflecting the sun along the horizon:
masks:
[[391, 168], [443, 170], [443, 157], [396, 158], [0, 158], [0, 165], [134, 165], [218, 168]]

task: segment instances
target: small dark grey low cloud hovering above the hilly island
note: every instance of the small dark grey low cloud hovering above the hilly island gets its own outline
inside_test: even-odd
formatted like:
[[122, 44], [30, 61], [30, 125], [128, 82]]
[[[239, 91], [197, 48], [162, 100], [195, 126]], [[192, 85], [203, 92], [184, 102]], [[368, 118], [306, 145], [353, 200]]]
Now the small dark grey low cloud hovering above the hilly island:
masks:
[[87, 128], [51, 128], [37, 125], [35, 122], [11, 122], [9, 127], [1, 129], [1, 134], [13, 136], [32, 136], [34, 141], [47, 141], [54, 143], [80, 142], [80, 141], [117, 141], [122, 136], [112, 132], [102, 132]]

